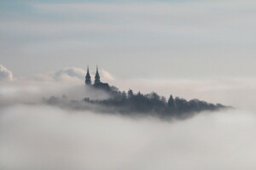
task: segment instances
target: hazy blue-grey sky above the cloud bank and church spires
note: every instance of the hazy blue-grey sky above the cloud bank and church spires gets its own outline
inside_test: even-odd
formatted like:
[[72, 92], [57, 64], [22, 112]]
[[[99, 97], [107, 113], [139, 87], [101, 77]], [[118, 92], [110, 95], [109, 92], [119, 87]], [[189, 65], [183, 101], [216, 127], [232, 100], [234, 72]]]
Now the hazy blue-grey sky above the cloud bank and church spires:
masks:
[[15, 76], [87, 64], [132, 79], [255, 77], [256, 2], [0, 1]]

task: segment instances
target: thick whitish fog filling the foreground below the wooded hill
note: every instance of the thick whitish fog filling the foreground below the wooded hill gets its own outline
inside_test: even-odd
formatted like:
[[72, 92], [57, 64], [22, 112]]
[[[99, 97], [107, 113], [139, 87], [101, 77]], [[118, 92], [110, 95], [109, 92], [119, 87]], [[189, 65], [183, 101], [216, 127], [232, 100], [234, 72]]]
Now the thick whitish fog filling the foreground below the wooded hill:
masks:
[[15, 105], [1, 111], [0, 166], [12, 170], [254, 169], [256, 116], [161, 122]]

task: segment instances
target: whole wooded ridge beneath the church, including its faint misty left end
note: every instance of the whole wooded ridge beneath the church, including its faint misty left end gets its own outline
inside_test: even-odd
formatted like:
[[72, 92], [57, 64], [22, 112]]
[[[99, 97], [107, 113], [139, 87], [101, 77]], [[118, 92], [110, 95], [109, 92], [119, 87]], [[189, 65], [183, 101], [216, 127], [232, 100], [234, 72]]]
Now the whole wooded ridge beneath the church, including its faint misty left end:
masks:
[[[218, 111], [230, 109], [230, 106], [211, 104], [199, 99], [186, 100], [170, 95], [169, 99], [152, 92], [150, 94], [133, 93], [131, 89], [126, 93], [119, 88], [109, 86], [108, 83], [95, 82], [85, 86], [87, 94], [96, 94], [94, 98], [84, 96], [84, 99], [68, 99], [68, 95], [51, 96], [43, 99], [44, 104], [56, 105], [79, 111], [96, 111], [124, 116], [155, 116], [162, 119], [184, 119], [195, 116], [201, 111]], [[102, 94], [105, 98], [97, 97]]]

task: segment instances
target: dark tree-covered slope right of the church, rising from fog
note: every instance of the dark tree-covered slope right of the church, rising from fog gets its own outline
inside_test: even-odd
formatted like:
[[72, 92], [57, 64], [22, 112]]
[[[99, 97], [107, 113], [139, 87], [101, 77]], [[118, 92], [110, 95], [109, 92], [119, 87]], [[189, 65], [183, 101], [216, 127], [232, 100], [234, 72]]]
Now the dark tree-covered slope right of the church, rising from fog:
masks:
[[108, 91], [109, 99], [89, 99], [85, 98], [84, 102], [93, 105], [102, 105], [111, 108], [111, 111], [119, 112], [125, 115], [131, 114], [148, 114], [160, 117], [178, 117], [186, 118], [193, 116], [201, 111], [218, 111], [229, 108], [224, 105], [213, 105], [199, 99], [186, 100], [182, 98], [169, 99], [156, 93], [134, 94], [130, 89], [128, 93], [120, 92], [118, 88], [111, 87]]

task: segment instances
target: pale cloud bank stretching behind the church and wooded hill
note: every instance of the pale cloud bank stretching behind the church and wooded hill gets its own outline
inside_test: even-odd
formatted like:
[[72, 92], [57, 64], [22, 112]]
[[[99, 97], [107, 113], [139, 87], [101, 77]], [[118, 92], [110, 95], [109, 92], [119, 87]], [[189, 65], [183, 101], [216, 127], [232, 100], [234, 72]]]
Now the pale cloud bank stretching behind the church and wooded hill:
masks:
[[[95, 70], [93, 68], [90, 69], [92, 82], [94, 82]], [[221, 103], [256, 111], [253, 102], [247, 101], [247, 99], [253, 101], [256, 95], [256, 80], [253, 77], [229, 77], [225, 79], [173, 78], [171, 80], [158, 77], [157, 79], [132, 80], [123, 77], [116, 78], [104, 69], [100, 70], [100, 76], [102, 82], [108, 82], [110, 85], [118, 87], [121, 91], [128, 91], [130, 88], [135, 93], [141, 91], [144, 94], [148, 94], [154, 91], [166, 96], [166, 98], [169, 98], [169, 95], [172, 94], [184, 99], [202, 99], [210, 103]], [[44, 94], [47, 95], [44, 97], [49, 97], [50, 94], [61, 96], [66, 94], [65, 90], [68, 91], [69, 88], [77, 88], [75, 94], [79, 96], [79, 99], [83, 99], [86, 95], [84, 94], [86, 90], [84, 91], [82, 88], [84, 87], [84, 77], [85, 71], [79, 67], [66, 67], [59, 71], [36, 74], [30, 77], [15, 77], [15, 79], [13, 78], [15, 81], [11, 83], [8, 83], [9, 81], [2, 82], [0, 101], [3, 101], [1, 95], [4, 97], [9, 96], [9, 101], [20, 101], [23, 98], [23, 94], [32, 95], [34, 96], [32, 99], [37, 99], [38, 101], [42, 97], [42, 95], [39, 95], [39, 98], [35, 98], [38, 91], [44, 92], [45, 90], [47, 93]], [[79, 93], [79, 90], [83, 91], [83, 93]], [[14, 94], [14, 92], [17, 92], [17, 94]], [[94, 97], [92, 96], [91, 98]]]

